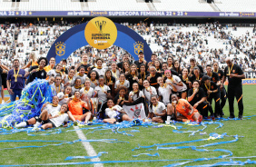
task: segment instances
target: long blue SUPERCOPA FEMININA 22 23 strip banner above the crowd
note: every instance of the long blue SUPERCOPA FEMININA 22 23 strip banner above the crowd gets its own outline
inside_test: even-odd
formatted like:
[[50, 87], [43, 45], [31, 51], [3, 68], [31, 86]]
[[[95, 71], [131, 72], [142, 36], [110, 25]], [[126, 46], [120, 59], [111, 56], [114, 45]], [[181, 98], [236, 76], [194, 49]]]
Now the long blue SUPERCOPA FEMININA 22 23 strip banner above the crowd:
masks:
[[108, 16], [108, 17], [256, 17], [255, 12], [191, 12], [191, 11], [0, 11], [0, 17], [31, 16]]

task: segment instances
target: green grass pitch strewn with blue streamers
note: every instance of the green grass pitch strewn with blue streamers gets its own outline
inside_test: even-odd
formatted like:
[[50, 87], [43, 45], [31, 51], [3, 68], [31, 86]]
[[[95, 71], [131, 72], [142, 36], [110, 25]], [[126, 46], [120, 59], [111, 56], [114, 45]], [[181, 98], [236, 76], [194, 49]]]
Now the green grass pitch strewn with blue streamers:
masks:
[[[244, 116], [255, 115], [255, 85], [244, 85], [243, 86], [243, 103], [244, 103]], [[228, 102], [227, 102], [228, 103]], [[238, 107], [235, 102], [235, 115], [238, 116]], [[228, 104], [224, 108], [224, 118], [229, 116]], [[251, 119], [244, 119], [241, 121], [222, 121], [222, 128], [215, 129], [218, 127], [218, 124], [207, 125], [207, 128], [202, 133], [207, 133], [200, 135], [195, 133], [195, 135], [190, 136], [190, 133], [173, 133], [172, 127], [164, 126], [162, 128], [153, 128], [136, 126], [133, 128], [120, 129], [119, 131], [131, 131], [139, 130], [140, 132], [131, 133], [134, 136], [127, 136], [120, 133], [112, 133], [111, 130], [105, 131], [95, 131], [94, 130], [83, 130], [86, 138], [89, 139], [117, 139], [118, 141], [126, 142], [91, 142], [94, 147], [95, 152], [108, 152], [108, 154], [103, 154], [100, 159], [101, 161], [136, 161], [136, 160], [176, 160], [176, 159], [197, 159], [197, 158], [212, 158], [218, 157], [223, 154], [228, 154], [227, 152], [198, 152], [193, 151], [191, 148], [187, 149], [178, 149], [178, 150], [155, 150], [156, 147], [153, 147], [153, 151], [146, 151], [147, 149], [140, 149], [132, 151], [135, 147], [140, 145], [152, 145], [154, 143], [165, 143], [165, 142], [183, 142], [183, 141], [192, 141], [198, 139], [206, 139], [209, 137], [210, 133], [227, 133], [228, 135], [238, 134], [240, 137], [237, 142], [225, 143], [222, 145], [210, 146], [201, 149], [215, 150], [215, 149], [225, 149], [233, 153], [233, 157], [245, 157], [245, 156], [255, 156], [255, 124], [256, 117], [251, 117]], [[183, 128], [180, 131], [196, 131], [202, 129], [202, 126], [190, 126], [182, 123], [177, 125], [182, 125]], [[93, 127], [93, 126], [86, 126]], [[74, 141], [78, 140], [77, 134], [73, 132], [66, 132], [67, 130], [74, 130], [73, 127], [62, 128], [63, 133], [53, 134], [53, 135], [37, 135], [29, 136], [27, 133], [14, 133], [0, 135], [0, 141], [4, 140], [45, 140], [45, 141]], [[49, 132], [49, 130], [48, 130]], [[55, 132], [55, 130], [53, 131]], [[33, 134], [42, 134], [45, 132], [33, 133]], [[203, 142], [192, 142], [192, 143], [183, 143], [180, 145], [168, 145], [172, 146], [187, 146], [194, 145], [199, 146], [206, 143], [212, 142], [224, 142], [231, 141], [233, 137], [224, 137], [220, 140], [210, 140]], [[129, 143], [127, 143], [129, 142]], [[84, 150], [82, 142], [75, 142], [73, 144], [62, 144], [60, 146], [47, 146], [43, 148], [18, 148], [12, 150], [3, 150], [4, 148], [13, 148], [19, 146], [29, 146], [29, 145], [45, 145], [45, 144], [56, 144], [59, 142], [0, 142], [0, 154], [1, 161], [0, 165], [15, 165], [15, 164], [44, 164], [44, 163], [59, 163], [59, 162], [90, 162], [89, 159], [78, 159], [71, 161], [64, 161], [67, 156], [88, 156], [87, 152]], [[147, 155], [141, 155], [139, 157], [133, 157], [139, 153], [156, 153], [159, 152], [160, 156], [150, 157]], [[234, 159], [235, 161], [241, 160], [242, 162], [247, 159]], [[251, 158], [251, 160], [256, 160], [256, 158]], [[212, 164], [215, 162], [229, 161], [229, 159], [221, 160], [211, 160], [203, 162], [191, 162], [185, 165], [202, 165], [202, 164]], [[176, 161], [177, 162], [177, 161]], [[187, 162], [187, 161], [179, 161]], [[175, 162], [129, 162], [129, 163], [108, 163], [103, 164], [103, 166], [165, 166]], [[254, 166], [252, 164], [251, 166]], [[77, 166], [77, 165], [71, 165]], [[82, 166], [82, 165], [80, 165]], [[84, 166], [84, 165], [83, 165]], [[90, 166], [90, 165], [89, 165]], [[93, 166], [93, 165], [91, 165]]]

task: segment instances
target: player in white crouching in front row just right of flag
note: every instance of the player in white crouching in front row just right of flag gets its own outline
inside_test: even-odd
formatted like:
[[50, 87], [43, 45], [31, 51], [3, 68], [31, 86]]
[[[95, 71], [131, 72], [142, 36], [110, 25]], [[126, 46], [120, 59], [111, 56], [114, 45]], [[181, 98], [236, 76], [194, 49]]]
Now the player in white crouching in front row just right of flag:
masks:
[[151, 103], [148, 118], [151, 118], [156, 123], [164, 123], [166, 121], [166, 107], [164, 103], [158, 101], [157, 95], [151, 96]]

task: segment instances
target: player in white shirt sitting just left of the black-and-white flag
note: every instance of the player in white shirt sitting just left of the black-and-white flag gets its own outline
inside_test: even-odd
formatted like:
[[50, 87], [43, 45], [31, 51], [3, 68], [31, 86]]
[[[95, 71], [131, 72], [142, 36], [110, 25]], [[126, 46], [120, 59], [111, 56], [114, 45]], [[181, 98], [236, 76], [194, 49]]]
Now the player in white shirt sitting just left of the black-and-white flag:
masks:
[[133, 121], [129, 116], [124, 112], [123, 108], [120, 105], [114, 105], [112, 99], [107, 100], [107, 107], [105, 109], [105, 114], [109, 118], [103, 119], [104, 123], [121, 123], [123, 121]]

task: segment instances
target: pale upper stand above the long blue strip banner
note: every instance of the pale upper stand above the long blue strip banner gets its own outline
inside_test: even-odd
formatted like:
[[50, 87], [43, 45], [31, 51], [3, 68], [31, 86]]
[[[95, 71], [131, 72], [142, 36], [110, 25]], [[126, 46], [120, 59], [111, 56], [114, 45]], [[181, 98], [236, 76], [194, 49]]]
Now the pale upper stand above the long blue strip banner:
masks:
[[[138, 0], [95, 0], [87, 3], [71, 0], [29, 0], [16, 4], [0, 0], [0, 3], [0, 11], [216, 11], [211, 4], [199, 0], [155, 0], [153, 3]], [[253, 12], [255, 5], [254, 0], [219, 0], [214, 4], [219, 12]]]

